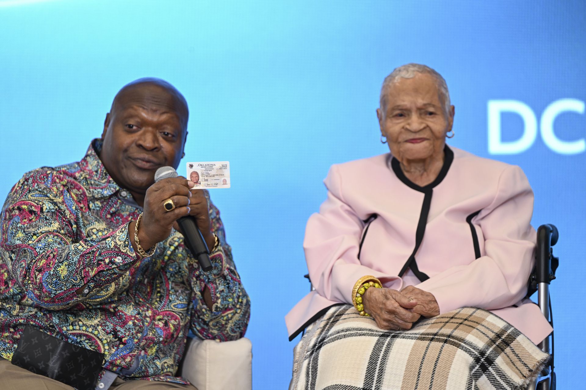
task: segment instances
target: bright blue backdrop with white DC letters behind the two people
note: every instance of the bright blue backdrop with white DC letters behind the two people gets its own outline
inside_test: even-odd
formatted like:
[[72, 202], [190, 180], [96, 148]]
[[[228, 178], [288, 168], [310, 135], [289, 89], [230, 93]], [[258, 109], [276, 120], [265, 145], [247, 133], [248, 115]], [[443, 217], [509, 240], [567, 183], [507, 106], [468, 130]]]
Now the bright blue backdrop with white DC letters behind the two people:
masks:
[[297, 340], [283, 317], [309, 289], [302, 240], [322, 180], [333, 163], [387, 151], [381, 82], [427, 64], [456, 106], [449, 143], [520, 165], [534, 225], [560, 229], [556, 363], [560, 388], [575, 387], [586, 361], [586, 2], [516, 3], [0, 0], [0, 198], [25, 171], [83, 157], [122, 85], [174, 84], [191, 111], [180, 169], [230, 161], [232, 188], [212, 199], [252, 298], [254, 388], [285, 389]]

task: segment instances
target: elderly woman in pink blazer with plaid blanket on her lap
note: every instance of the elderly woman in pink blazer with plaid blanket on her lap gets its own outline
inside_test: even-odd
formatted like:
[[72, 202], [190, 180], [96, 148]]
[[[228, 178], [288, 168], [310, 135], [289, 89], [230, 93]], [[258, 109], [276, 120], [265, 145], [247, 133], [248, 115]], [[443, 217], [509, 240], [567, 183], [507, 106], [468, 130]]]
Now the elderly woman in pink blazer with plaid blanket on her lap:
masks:
[[390, 153], [333, 165], [306, 227], [315, 291], [286, 317], [290, 339], [306, 330], [291, 388], [520, 388], [552, 330], [525, 299], [527, 178], [446, 145], [454, 106], [425, 65], [384, 80], [377, 116]]

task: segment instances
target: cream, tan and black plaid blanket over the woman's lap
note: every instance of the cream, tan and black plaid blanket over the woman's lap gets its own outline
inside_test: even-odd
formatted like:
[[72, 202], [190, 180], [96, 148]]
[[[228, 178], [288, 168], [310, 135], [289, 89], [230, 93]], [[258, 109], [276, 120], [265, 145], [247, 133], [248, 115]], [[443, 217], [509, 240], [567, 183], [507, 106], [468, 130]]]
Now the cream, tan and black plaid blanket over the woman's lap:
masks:
[[523, 389], [549, 356], [492, 313], [462, 308], [389, 331], [333, 306], [295, 347], [289, 390]]

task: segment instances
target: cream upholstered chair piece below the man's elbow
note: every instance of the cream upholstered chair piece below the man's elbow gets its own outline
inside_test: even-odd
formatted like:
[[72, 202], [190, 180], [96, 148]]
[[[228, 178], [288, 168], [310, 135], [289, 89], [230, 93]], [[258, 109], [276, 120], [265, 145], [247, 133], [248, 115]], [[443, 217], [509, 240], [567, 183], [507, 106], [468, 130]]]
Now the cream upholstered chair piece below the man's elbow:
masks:
[[251, 390], [252, 346], [246, 337], [224, 343], [188, 338], [179, 375], [197, 390]]

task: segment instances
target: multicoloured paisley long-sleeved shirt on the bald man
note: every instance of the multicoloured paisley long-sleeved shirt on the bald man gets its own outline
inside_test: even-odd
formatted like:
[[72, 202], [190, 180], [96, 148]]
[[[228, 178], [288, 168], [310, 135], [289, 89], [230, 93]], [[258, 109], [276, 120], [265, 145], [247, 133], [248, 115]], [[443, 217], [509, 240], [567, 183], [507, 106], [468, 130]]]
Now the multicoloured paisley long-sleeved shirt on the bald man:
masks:
[[[0, 357], [11, 360], [26, 325], [105, 354], [104, 368], [156, 381], [173, 377], [192, 330], [202, 339], [244, 336], [250, 301], [234, 267], [220, 213], [220, 247], [203, 272], [173, 230], [155, 254], [132, 249], [141, 209], [112, 180], [94, 140], [78, 163], [28, 172], [0, 214]], [[97, 151], [96, 151], [97, 150]], [[80, 287], [83, 292], [76, 293]], [[210, 289], [213, 307], [203, 301]]]

